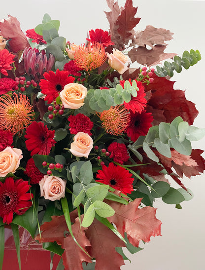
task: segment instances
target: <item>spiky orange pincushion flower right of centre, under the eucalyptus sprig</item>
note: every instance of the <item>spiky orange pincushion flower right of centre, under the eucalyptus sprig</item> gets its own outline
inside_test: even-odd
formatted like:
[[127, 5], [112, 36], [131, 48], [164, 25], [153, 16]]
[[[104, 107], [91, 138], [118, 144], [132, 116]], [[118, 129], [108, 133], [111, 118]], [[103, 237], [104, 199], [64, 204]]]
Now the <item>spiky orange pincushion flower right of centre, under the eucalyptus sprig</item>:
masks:
[[101, 118], [102, 127], [112, 135], [122, 134], [130, 122], [129, 112], [121, 105], [111, 107], [108, 111], [97, 113], [97, 115]]

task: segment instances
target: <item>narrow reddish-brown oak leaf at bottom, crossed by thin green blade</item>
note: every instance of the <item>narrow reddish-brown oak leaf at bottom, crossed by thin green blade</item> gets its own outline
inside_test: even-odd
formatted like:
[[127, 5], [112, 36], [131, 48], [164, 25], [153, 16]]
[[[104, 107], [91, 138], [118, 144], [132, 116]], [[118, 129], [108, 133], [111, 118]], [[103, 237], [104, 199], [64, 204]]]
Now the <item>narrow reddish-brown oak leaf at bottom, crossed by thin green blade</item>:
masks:
[[[84, 227], [80, 227], [79, 218], [72, 225], [72, 232], [79, 245], [86, 251], [90, 241], [85, 236]], [[69, 234], [64, 238], [62, 248], [65, 249], [62, 258], [66, 270], [83, 270], [82, 262], [92, 263], [91, 258], [75, 243]]]

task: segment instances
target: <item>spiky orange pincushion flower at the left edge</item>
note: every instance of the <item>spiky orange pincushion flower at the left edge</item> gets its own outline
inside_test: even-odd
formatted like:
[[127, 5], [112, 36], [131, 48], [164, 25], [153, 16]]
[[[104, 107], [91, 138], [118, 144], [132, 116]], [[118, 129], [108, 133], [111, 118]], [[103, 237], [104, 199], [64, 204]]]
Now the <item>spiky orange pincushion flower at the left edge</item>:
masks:
[[22, 135], [24, 127], [32, 122], [34, 112], [26, 95], [13, 93], [0, 97], [0, 128]]

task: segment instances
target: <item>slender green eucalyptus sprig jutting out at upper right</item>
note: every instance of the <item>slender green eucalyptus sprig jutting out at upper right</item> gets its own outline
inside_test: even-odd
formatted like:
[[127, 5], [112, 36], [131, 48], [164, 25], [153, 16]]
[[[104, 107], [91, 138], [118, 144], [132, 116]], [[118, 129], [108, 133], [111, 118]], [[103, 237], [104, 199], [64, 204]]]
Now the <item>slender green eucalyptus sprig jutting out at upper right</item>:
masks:
[[177, 73], [180, 73], [182, 71], [182, 67], [184, 67], [186, 70], [190, 66], [194, 66], [197, 64], [198, 61], [200, 61], [201, 54], [198, 50], [191, 49], [190, 52], [184, 51], [182, 58], [179, 56], [174, 56], [172, 63], [165, 61], [164, 67], [157, 66], [157, 71], [155, 71], [155, 74], [158, 77], [165, 77], [165, 76], [173, 76], [173, 70], [175, 70]]

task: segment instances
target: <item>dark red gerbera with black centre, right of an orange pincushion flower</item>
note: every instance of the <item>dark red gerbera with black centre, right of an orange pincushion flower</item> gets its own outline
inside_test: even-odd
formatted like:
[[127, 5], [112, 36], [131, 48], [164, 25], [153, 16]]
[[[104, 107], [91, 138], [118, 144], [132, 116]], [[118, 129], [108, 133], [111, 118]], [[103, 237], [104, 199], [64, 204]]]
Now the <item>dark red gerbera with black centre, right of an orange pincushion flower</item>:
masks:
[[130, 114], [131, 120], [126, 133], [131, 138], [133, 142], [137, 141], [139, 136], [144, 136], [147, 134], [149, 128], [152, 126], [153, 116], [151, 113], [146, 113], [146, 111]]

